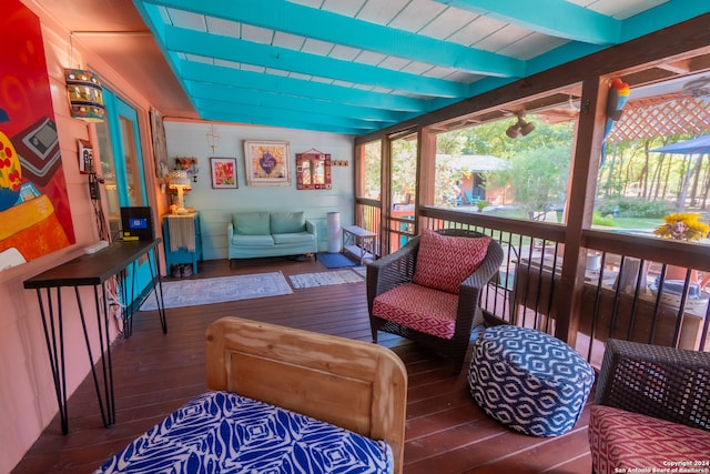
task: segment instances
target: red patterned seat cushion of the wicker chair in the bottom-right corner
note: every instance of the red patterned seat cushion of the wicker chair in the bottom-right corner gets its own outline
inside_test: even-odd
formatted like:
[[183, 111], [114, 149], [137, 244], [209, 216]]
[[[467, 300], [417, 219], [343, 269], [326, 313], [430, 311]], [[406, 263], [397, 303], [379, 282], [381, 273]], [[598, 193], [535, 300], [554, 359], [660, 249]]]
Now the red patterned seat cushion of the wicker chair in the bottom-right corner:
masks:
[[631, 468], [649, 470], [638, 472], [669, 468], [668, 472], [673, 472], [673, 467], [682, 467], [679, 462], [689, 462], [691, 464], [686, 467], [698, 468], [693, 461], [710, 461], [707, 455], [710, 453], [710, 432], [611, 406], [591, 406], [589, 445], [597, 474], [630, 472]]

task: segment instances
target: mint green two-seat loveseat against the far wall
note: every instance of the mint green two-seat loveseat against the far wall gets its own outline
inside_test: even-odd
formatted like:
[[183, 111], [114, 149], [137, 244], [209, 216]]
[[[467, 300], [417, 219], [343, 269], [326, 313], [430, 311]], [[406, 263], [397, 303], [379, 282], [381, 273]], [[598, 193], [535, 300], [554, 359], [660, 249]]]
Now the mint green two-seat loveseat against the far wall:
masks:
[[227, 224], [227, 244], [230, 262], [318, 251], [316, 228], [303, 212], [235, 212]]

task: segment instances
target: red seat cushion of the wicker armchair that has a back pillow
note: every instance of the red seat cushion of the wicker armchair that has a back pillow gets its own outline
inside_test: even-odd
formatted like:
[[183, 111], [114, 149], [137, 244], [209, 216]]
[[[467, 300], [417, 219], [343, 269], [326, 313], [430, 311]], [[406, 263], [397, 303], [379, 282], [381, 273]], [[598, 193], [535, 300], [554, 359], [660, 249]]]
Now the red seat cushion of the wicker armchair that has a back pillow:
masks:
[[458, 295], [414, 283], [405, 283], [379, 294], [373, 314], [383, 320], [435, 335], [454, 337]]

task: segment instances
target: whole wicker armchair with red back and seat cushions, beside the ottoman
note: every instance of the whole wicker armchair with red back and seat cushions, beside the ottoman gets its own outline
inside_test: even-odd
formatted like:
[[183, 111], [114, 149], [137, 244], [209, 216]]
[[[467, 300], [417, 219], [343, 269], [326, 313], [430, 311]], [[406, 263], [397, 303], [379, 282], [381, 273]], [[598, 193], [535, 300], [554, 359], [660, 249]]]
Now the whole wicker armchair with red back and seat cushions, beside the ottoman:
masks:
[[425, 230], [398, 251], [367, 265], [373, 341], [384, 331], [452, 360], [460, 372], [471, 329], [483, 323], [479, 300], [498, 272], [498, 242], [464, 229]]

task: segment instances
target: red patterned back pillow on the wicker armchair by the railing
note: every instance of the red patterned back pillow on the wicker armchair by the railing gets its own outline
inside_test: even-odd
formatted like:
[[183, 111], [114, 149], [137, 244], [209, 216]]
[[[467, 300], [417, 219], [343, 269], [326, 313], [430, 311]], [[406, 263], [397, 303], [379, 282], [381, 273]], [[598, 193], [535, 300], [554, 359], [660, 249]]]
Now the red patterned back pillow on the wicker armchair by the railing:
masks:
[[489, 236], [465, 238], [422, 232], [414, 283], [458, 293], [458, 286], [480, 265], [488, 252]]

